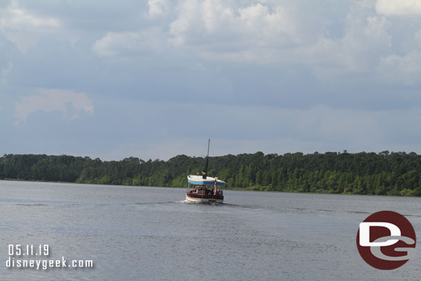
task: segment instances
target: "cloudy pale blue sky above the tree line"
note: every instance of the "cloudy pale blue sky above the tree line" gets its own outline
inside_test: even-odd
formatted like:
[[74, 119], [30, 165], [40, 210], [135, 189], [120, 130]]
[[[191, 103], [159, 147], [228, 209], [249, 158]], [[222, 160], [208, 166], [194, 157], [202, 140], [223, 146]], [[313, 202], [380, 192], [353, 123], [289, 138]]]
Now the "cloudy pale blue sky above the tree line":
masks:
[[0, 154], [421, 154], [420, 0], [0, 1]]

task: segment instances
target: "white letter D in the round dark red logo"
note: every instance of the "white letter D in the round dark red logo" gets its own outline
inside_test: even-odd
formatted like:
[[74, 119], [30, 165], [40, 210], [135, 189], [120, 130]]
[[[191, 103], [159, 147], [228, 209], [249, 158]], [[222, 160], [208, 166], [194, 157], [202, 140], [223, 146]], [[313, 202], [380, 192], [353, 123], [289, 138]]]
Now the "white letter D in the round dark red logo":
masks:
[[390, 246], [399, 241], [399, 239], [389, 239], [384, 242], [370, 242], [370, 227], [382, 226], [389, 229], [390, 236], [400, 236], [400, 229], [390, 222], [362, 222], [360, 223], [360, 245], [361, 246]]

